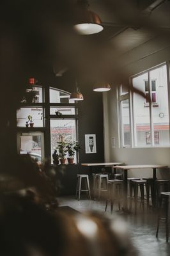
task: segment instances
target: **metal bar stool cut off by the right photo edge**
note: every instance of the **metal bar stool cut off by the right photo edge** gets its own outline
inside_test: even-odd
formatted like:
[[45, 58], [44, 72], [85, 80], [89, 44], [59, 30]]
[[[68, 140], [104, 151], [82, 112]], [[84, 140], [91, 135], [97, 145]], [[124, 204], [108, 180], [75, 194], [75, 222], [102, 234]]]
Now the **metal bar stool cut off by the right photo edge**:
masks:
[[[156, 232], [156, 237], [158, 237], [158, 230], [159, 230], [159, 224], [161, 220], [165, 220], [166, 223], [166, 241], [168, 242], [169, 240], [169, 198], [170, 198], [170, 192], [161, 192], [160, 197], [159, 197], [159, 207], [158, 207], [158, 222], [157, 222], [157, 232]], [[165, 202], [164, 208], [164, 217], [161, 214], [161, 207], [162, 207], [162, 202]]]

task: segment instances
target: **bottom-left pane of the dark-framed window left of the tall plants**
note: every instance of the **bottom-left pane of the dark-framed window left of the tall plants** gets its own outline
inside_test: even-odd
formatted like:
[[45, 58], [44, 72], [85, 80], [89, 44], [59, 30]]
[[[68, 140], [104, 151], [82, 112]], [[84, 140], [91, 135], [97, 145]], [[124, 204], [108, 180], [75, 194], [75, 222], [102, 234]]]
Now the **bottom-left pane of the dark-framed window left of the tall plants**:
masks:
[[33, 159], [42, 161], [42, 132], [29, 132], [19, 135], [20, 154], [29, 153]]

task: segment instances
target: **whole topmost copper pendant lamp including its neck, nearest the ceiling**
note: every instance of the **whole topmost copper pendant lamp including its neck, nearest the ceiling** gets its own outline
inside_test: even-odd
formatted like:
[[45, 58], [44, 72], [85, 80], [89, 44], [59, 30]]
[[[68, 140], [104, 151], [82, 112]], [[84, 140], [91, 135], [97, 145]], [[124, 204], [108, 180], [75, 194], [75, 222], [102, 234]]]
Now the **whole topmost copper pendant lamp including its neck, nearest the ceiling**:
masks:
[[74, 28], [81, 35], [91, 35], [99, 33], [104, 28], [102, 20], [98, 15], [90, 11], [89, 3], [86, 0], [78, 0], [79, 13], [76, 17]]

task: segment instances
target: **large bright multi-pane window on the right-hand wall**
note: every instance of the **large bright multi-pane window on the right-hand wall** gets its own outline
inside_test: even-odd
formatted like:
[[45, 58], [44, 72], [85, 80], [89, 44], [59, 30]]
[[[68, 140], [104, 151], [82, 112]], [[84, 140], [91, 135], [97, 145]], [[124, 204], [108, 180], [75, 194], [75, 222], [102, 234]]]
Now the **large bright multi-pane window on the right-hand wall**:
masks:
[[122, 93], [120, 88], [121, 147], [169, 146], [166, 64], [131, 77], [131, 83], [146, 95], [146, 99], [138, 93]]

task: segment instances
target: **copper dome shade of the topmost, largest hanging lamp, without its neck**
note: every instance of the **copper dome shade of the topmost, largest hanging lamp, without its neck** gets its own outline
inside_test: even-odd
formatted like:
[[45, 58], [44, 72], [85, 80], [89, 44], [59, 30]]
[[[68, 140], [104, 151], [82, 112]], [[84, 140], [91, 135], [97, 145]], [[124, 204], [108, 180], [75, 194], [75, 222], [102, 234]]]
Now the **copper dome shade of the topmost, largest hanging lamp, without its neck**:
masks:
[[75, 23], [74, 28], [81, 35], [91, 35], [99, 33], [104, 28], [102, 26], [102, 20], [98, 15], [90, 10], [83, 10], [81, 19]]

